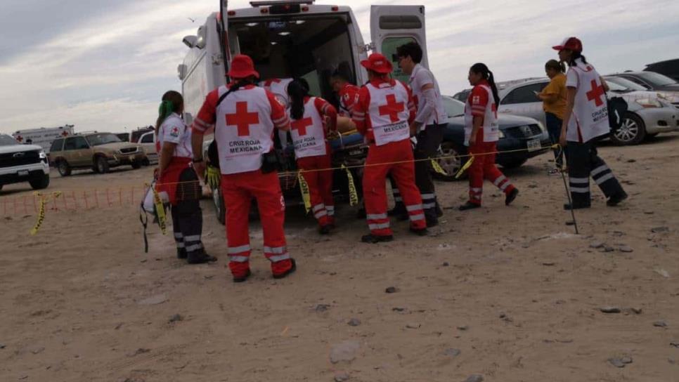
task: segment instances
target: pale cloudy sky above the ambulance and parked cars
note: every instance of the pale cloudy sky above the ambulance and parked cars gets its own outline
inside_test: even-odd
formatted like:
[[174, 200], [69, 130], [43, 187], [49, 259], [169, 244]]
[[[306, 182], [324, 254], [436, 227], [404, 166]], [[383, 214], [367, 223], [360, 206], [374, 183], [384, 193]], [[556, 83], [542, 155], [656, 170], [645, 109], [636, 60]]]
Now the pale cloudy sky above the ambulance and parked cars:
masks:
[[[351, 6], [370, 41], [370, 6]], [[441, 92], [468, 87], [474, 62], [497, 81], [539, 77], [567, 36], [602, 74], [642, 70], [679, 55], [676, 0], [373, 0], [422, 4], [429, 67]], [[130, 131], [155, 123], [162, 93], [181, 90], [176, 75], [217, 0], [2, 0], [0, 132], [74, 124], [76, 131]], [[248, 7], [229, 1], [229, 8]], [[195, 20], [195, 22], [193, 21]]]

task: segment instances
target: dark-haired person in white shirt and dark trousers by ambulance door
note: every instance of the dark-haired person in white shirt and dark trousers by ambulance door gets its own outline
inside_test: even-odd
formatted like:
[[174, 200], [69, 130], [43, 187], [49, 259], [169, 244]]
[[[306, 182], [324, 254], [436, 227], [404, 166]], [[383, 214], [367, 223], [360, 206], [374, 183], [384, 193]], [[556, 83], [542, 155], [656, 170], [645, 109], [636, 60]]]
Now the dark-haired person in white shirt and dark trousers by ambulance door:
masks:
[[[410, 42], [396, 48], [399, 67], [404, 73], [410, 75], [409, 84], [413, 90], [413, 98], [418, 106], [415, 114], [415, 121], [410, 125], [411, 135], [417, 138], [415, 143], [415, 183], [420, 189], [422, 196], [422, 207], [425, 210], [427, 227], [434, 227], [439, 224], [439, 216], [443, 214], [437, 202], [434, 181], [432, 180], [431, 161], [439, 150], [441, 140], [444, 138], [444, 129], [448, 124], [448, 114], [444, 107], [439, 83], [434, 74], [426, 67], [423, 67], [422, 48], [416, 42]], [[396, 208], [394, 213], [407, 216], [403, 209], [403, 203], [399, 204], [401, 195], [398, 189], [394, 188], [394, 200]], [[402, 209], [402, 211], [399, 211]]]

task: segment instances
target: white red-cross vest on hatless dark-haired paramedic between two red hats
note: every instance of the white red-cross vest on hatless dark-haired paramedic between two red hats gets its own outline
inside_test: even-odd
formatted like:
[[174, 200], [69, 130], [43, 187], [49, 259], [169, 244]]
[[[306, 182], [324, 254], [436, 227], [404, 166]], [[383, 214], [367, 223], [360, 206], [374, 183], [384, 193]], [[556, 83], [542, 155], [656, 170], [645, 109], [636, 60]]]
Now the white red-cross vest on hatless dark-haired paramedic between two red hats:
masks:
[[311, 97], [304, 104], [302, 119], [292, 119], [290, 116], [290, 134], [295, 145], [295, 157], [316, 157], [325, 155], [325, 131], [323, 119], [316, 109], [316, 98]]

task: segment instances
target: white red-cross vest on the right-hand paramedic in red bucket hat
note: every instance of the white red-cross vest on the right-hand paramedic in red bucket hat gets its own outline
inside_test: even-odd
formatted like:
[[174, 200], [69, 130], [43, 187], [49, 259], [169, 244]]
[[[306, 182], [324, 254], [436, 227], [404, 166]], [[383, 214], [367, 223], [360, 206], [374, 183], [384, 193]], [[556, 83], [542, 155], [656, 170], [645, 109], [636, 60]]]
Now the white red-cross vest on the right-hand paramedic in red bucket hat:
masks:
[[368, 115], [373, 127], [375, 145], [382, 146], [391, 142], [410, 139], [408, 126], [408, 91], [400, 81], [395, 86], [384, 82], [380, 87], [367, 84], [370, 92]]

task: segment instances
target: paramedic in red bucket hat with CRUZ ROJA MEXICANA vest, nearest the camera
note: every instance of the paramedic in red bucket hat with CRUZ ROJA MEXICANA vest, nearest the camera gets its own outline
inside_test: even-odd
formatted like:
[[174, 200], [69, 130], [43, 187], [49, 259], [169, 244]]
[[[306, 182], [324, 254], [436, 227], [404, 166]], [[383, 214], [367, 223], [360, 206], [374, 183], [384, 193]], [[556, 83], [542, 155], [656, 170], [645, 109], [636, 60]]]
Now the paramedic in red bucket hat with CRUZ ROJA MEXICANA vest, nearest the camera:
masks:
[[[272, 136], [274, 128], [289, 130], [290, 119], [272, 93], [255, 85], [259, 73], [252, 58], [236, 55], [228, 76], [231, 84], [209, 93], [193, 122], [193, 150], [200, 153], [203, 133], [215, 124], [233, 281], [243, 282], [250, 276], [248, 215], [252, 197], [257, 199], [264, 231], [264, 256], [271, 261], [273, 277], [283, 278], [294, 272], [296, 265], [285, 244], [285, 202], [272, 164]], [[205, 169], [202, 155], [195, 154], [193, 162], [199, 173]]]

